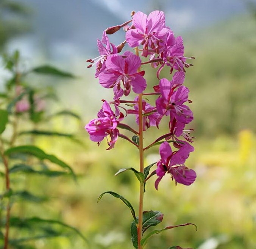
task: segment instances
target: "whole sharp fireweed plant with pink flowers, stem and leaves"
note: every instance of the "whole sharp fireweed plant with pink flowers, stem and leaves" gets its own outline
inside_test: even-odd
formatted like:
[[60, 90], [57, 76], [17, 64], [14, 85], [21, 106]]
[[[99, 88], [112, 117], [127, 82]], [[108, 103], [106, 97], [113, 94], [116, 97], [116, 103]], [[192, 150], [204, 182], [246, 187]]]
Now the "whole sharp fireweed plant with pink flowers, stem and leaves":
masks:
[[[186, 105], [187, 102], [191, 103], [188, 98], [189, 89], [183, 86], [186, 68], [192, 66], [187, 59], [194, 59], [194, 57], [184, 56], [183, 39], [181, 36], [175, 37], [173, 31], [165, 25], [164, 12], [157, 10], [148, 16], [143, 12], [132, 12], [131, 16], [132, 19], [122, 25], [107, 28], [103, 32], [102, 39], [97, 40], [100, 56], [87, 60], [90, 63], [88, 67], [96, 65], [95, 78], [98, 78], [101, 86], [112, 89], [114, 97], [110, 101], [103, 100], [97, 118], [86, 124], [85, 129], [90, 139], [98, 145], [106, 138], [108, 150], [114, 148], [118, 138], [127, 140], [139, 150], [139, 170], [122, 168], [116, 173], [117, 175], [131, 170], [139, 180], [138, 215], [136, 216], [130, 202], [115, 192], [102, 193], [98, 201], [105, 193], [109, 193], [121, 199], [130, 208], [133, 216], [131, 240], [136, 249], [142, 249], [152, 235], [174, 227], [192, 224], [168, 226], [145, 233], [149, 227], [161, 223], [163, 214], [160, 211], [144, 211], [143, 199], [145, 184], [154, 175], [157, 176], [156, 190], [165, 174], [170, 174], [175, 185], [190, 185], [196, 179], [195, 171], [184, 164], [189, 153], [194, 151], [194, 147], [190, 145], [193, 137], [189, 135], [190, 130], [185, 129], [186, 124], [193, 120], [193, 113]], [[125, 31], [125, 40], [116, 46], [109, 42], [108, 35], [114, 34], [121, 28]], [[132, 48], [135, 54], [130, 51], [131, 49], [120, 54], [125, 45]], [[140, 56], [147, 58], [144, 59], [145, 62], [142, 62]], [[142, 70], [144, 64], [157, 68], [156, 86], [153, 89], [147, 89], [145, 71]], [[160, 77], [160, 72], [164, 67], [170, 68], [170, 74], [173, 73], [172, 79]], [[136, 94], [134, 100], [125, 100], [124, 97], [131, 93]], [[156, 97], [155, 106], [147, 103], [147, 97], [150, 95]], [[137, 129], [123, 123], [128, 115], [136, 118]], [[159, 129], [164, 116], [170, 118], [169, 132], [161, 135], [149, 145], [144, 145], [144, 134], [151, 126]], [[133, 136], [127, 137], [121, 133], [121, 129], [132, 132]], [[160, 145], [161, 158], [158, 162], [144, 168], [144, 151], [156, 145]], [[156, 169], [152, 170], [153, 167]], [[171, 248], [181, 249], [182, 247], [169, 247]]]

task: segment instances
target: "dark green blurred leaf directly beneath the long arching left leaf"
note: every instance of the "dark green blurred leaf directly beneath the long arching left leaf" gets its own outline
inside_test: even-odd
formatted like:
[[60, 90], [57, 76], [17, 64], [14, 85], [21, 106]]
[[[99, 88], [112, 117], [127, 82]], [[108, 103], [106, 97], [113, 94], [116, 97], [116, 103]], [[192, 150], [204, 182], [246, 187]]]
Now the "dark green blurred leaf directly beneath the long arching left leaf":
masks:
[[16, 172], [24, 172], [28, 174], [39, 174], [39, 175], [45, 175], [49, 177], [56, 177], [56, 176], [62, 176], [67, 175], [68, 173], [66, 171], [55, 171], [55, 170], [34, 170], [32, 167], [26, 164], [16, 164], [9, 170], [9, 174], [16, 173]]

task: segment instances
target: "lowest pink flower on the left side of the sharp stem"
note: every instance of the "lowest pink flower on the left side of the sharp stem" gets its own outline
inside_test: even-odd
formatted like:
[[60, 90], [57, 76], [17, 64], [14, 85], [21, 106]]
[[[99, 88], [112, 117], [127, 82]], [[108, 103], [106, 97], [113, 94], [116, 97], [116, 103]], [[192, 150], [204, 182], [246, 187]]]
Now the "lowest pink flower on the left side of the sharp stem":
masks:
[[97, 116], [98, 118], [91, 120], [84, 128], [89, 133], [90, 139], [98, 144], [109, 135], [108, 149], [112, 149], [118, 137], [117, 124], [123, 120], [124, 116], [120, 113], [119, 118], [116, 118], [106, 101]]

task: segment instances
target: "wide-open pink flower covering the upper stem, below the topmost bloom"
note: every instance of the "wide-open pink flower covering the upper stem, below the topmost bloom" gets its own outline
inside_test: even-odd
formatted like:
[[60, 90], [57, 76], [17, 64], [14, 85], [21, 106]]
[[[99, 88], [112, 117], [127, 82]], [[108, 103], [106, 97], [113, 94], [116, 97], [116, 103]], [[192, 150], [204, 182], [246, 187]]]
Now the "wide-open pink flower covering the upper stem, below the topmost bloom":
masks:
[[[114, 99], [120, 98], [123, 94], [127, 96], [131, 87], [133, 92], [142, 93], [147, 84], [143, 78], [145, 72], [137, 72], [140, 64], [139, 56], [130, 51], [126, 51], [123, 56], [110, 55], [105, 62], [106, 70], [99, 75], [99, 82], [105, 88], [114, 87]], [[121, 88], [121, 83], [123, 88]]]

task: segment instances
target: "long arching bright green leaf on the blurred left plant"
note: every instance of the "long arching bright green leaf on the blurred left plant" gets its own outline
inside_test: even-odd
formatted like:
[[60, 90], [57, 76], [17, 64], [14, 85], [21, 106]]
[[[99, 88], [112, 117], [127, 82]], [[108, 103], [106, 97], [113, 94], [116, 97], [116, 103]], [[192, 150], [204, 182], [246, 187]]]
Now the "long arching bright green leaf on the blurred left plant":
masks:
[[60, 167], [68, 169], [69, 172], [73, 175], [74, 179], [76, 178], [72, 168], [69, 165], [67, 165], [65, 162], [58, 159], [54, 155], [46, 154], [42, 149], [39, 149], [36, 146], [23, 145], [23, 146], [12, 147], [5, 151], [6, 156], [11, 156], [13, 154], [19, 154], [19, 153], [29, 154], [31, 156], [37, 157], [40, 160], [44, 160], [44, 159], [50, 160], [52, 163], [56, 163]]

